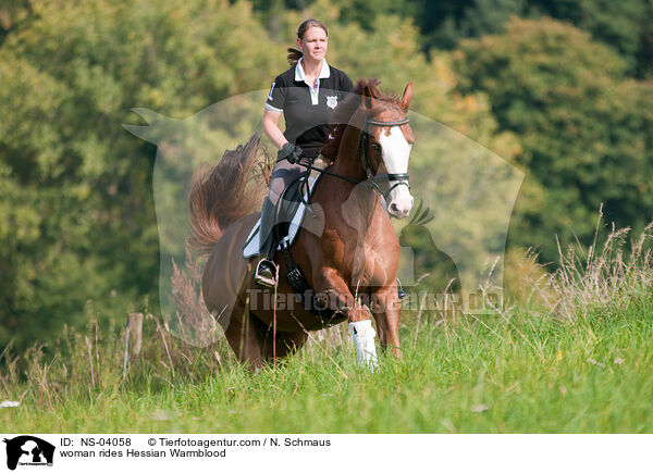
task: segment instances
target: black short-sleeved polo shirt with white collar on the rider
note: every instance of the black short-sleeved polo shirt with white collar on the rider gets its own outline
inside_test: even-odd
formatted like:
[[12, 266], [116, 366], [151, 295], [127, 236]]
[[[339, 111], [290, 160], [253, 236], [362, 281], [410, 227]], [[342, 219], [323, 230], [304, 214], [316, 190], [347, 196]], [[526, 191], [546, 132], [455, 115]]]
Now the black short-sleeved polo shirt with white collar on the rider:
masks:
[[347, 74], [326, 64], [326, 61], [322, 62], [317, 84], [309, 86], [305, 82], [300, 59], [295, 67], [274, 79], [266, 109], [283, 112], [286, 123], [283, 135], [312, 158], [326, 141], [331, 112], [353, 89]]

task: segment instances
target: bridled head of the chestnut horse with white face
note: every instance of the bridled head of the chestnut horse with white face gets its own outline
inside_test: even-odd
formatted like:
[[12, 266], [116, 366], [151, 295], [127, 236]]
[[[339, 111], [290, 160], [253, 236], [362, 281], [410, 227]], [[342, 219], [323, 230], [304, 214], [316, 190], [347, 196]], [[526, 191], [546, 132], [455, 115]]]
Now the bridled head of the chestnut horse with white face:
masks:
[[383, 194], [389, 213], [404, 219], [410, 213], [414, 198], [408, 184], [408, 161], [415, 142], [407, 111], [412, 99], [408, 83], [401, 99], [383, 96], [370, 82], [360, 96], [359, 160], [368, 178]]

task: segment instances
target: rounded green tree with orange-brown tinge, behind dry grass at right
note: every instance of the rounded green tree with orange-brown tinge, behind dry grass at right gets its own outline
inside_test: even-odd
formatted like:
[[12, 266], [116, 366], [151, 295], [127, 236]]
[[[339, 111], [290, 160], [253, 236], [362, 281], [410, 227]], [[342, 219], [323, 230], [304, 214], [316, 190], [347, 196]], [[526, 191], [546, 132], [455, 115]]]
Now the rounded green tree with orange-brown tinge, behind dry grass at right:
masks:
[[601, 202], [619, 227], [652, 219], [651, 86], [628, 79], [613, 49], [570, 24], [514, 17], [504, 35], [463, 41], [456, 69], [460, 90], [488, 94], [523, 147], [513, 242], [553, 261], [554, 235], [591, 242]]

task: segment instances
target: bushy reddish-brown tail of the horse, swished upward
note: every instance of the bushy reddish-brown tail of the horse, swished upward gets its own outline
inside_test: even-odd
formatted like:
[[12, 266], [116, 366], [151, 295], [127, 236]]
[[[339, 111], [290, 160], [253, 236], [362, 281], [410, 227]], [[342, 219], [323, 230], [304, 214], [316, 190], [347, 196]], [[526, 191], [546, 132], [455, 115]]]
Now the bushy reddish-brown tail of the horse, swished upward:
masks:
[[255, 133], [245, 146], [226, 150], [214, 166], [202, 165], [193, 177], [188, 197], [190, 236], [187, 245], [208, 254], [224, 228], [254, 212], [264, 189], [255, 179], [261, 136]]

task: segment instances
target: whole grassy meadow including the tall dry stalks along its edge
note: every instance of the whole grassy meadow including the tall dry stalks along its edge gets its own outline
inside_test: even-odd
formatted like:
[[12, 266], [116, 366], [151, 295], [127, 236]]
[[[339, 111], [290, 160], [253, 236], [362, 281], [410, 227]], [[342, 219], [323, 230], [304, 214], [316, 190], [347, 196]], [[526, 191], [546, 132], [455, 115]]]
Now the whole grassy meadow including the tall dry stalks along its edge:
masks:
[[356, 364], [346, 325], [252, 375], [224, 341], [187, 347], [149, 320], [123, 382], [124, 329], [89, 311], [87, 331], [58, 346], [2, 354], [0, 400], [21, 404], [0, 409], [0, 430], [651, 433], [650, 253], [606, 258], [564, 263], [538, 310], [419, 324], [407, 313], [403, 359], [382, 356], [373, 373]]

